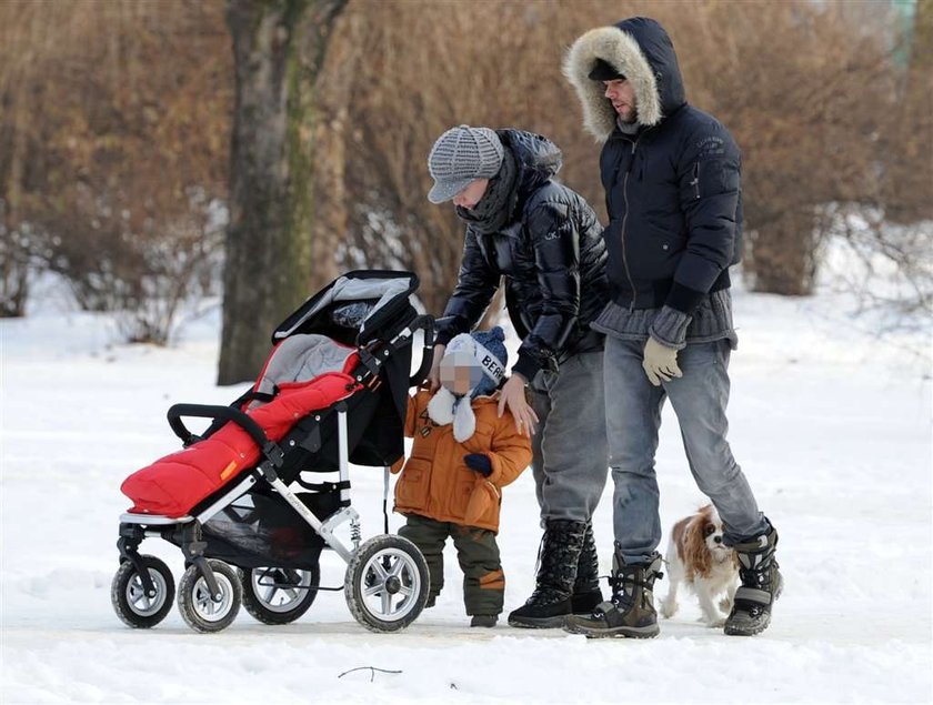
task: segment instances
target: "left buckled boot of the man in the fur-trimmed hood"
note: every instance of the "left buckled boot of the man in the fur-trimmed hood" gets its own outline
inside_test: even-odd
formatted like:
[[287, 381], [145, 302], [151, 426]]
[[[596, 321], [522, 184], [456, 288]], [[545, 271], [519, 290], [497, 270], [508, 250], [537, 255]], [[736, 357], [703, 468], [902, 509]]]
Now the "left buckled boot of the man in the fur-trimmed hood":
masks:
[[654, 611], [654, 581], [661, 577], [661, 555], [655, 553], [643, 564], [626, 565], [619, 553], [612, 560], [612, 601], [599, 605], [589, 617], [572, 615], [564, 630], [589, 637], [658, 636]]

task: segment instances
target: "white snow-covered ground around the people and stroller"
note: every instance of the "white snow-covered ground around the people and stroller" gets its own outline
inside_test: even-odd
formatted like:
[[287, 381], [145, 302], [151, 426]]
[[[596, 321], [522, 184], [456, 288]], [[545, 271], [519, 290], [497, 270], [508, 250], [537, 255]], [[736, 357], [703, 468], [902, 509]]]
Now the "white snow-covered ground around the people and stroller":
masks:
[[[171, 349], [127, 346], [108, 318], [49, 290], [29, 318], [0, 321], [0, 702], [929, 703], [929, 328], [879, 336], [851, 308], [827, 292], [735, 294], [730, 440], [781, 533], [786, 585], [764, 634], [705, 628], [685, 595], [652, 641], [471, 630], [451, 548], [438, 606], [401, 634], [367, 632], [340, 593], [322, 593], [292, 625], [241, 611], [227, 631], [199, 635], [174, 610], [151, 631], [126, 627], [110, 581], [129, 505], [120, 483], [177, 449], [168, 406], [228, 403], [243, 389], [214, 385], [219, 316], [187, 325]], [[670, 527], [703, 502], [670, 410], [658, 472]], [[357, 469], [353, 482], [374, 535], [382, 473]], [[610, 498], [608, 489], [595, 517], [602, 573]], [[504, 497], [506, 610], [531, 592], [539, 536], [529, 472]], [[143, 550], [180, 576], [177, 548]], [[324, 584], [341, 583], [342, 568], [325, 555]], [[365, 666], [399, 673], [342, 675]]]

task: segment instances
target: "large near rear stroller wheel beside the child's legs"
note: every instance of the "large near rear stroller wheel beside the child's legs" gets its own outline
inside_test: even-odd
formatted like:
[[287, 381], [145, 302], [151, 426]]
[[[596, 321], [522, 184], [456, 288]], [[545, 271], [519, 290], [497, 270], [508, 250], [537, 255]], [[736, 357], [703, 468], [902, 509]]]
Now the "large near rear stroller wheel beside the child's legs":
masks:
[[398, 632], [418, 618], [428, 601], [428, 564], [401, 536], [363, 543], [347, 566], [343, 593], [350, 612], [372, 632]]

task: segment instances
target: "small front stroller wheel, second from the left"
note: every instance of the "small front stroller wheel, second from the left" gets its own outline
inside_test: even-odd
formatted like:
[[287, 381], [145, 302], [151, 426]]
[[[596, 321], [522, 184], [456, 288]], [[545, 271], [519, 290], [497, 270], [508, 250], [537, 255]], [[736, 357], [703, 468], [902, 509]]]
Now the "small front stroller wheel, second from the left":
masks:
[[220, 561], [208, 561], [220, 588], [220, 600], [211, 595], [208, 582], [197, 565], [191, 565], [178, 584], [178, 610], [195, 632], [225, 630], [240, 611], [242, 591], [233, 568]]

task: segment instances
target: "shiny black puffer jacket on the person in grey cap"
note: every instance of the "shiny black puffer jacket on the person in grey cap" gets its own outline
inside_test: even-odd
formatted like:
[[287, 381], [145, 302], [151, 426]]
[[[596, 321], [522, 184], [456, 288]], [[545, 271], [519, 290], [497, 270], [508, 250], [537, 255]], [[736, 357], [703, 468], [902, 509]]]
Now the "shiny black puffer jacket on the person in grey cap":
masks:
[[538, 134], [499, 130], [515, 159], [518, 200], [498, 232], [466, 226], [457, 288], [438, 320], [438, 343], [479, 323], [505, 275], [505, 303], [522, 339], [512, 371], [531, 380], [568, 356], [602, 349], [590, 329], [608, 301], [605, 245], [596, 214], [574, 191], [553, 181], [558, 147]]

